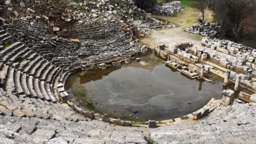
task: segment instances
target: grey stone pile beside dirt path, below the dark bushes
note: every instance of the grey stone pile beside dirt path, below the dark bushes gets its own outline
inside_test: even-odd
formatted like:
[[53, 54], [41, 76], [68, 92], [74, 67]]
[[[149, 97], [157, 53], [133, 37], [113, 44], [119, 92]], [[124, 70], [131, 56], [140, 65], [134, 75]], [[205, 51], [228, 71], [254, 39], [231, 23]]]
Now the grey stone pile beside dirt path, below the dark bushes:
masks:
[[218, 23], [195, 23], [192, 26], [186, 28], [186, 32], [194, 33], [196, 35], [201, 35], [203, 37], [210, 37], [214, 39], [218, 37], [217, 28]]

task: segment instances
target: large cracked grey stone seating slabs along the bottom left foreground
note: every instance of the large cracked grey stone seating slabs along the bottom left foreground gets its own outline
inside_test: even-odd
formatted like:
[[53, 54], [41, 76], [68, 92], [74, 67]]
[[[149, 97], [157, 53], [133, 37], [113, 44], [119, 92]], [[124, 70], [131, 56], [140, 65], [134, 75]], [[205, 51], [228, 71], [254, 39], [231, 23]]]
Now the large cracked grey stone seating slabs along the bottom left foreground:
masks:
[[[116, 143], [146, 144], [142, 130], [110, 126], [99, 121], [53, 121], [28, 117], [0, 116], [3, 143]], [[5, 138], [8, 135], [9, 138]]]

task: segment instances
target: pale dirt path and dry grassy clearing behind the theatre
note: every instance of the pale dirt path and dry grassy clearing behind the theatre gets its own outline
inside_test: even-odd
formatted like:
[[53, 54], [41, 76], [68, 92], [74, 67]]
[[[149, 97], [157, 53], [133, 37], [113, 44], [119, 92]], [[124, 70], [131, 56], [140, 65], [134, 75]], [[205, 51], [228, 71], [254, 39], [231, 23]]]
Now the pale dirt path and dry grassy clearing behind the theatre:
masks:
[[[211, 13], [212, 11], [206, 10], [206, 21], [212, 21]], [[181, 42], [192, 42], [193, 44], [200, 45], [202, 37], [185, 32], [188, 26], [197, 23], [198, 12], [195, 9], [185, 7], [180, 14], [173, 17], [156, 15], [153, 15], [153, 17], [158, 20], [168, 21], [178, 27], [152, 30], [150, 35], [147, 35], [147, 37], [141, 40], [142, 43], [147, 44], [151, 48], [162, 44], [174, 46]]]

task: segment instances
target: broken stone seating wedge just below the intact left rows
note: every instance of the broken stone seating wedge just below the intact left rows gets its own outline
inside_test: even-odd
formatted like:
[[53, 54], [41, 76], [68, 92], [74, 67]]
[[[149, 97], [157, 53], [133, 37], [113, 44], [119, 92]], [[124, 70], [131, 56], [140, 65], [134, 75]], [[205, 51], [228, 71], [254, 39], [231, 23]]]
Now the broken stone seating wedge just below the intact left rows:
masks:
[[4, 92], [0, 88], [0, 115], [16, 117], [37, 117], [40, 119], [56, 119], [68, 121], [86, 121], [85, 117], [71, 111], [68, 105], [65, 107], [59, 103], [47, 100], [34, 99], [25, 95], [13, 95], [12, 92]]

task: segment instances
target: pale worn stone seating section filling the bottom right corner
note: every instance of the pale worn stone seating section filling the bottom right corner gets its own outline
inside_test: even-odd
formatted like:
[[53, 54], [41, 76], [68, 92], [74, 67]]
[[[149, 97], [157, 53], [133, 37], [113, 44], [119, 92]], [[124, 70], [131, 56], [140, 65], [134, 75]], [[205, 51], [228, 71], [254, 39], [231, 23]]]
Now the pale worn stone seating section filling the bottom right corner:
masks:
[[173, 123], [150, 129], [155, 143], [255, 143], [256, 104], [217, 107], [195, 123]]

